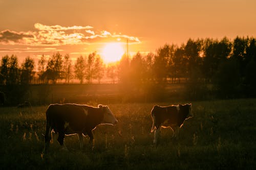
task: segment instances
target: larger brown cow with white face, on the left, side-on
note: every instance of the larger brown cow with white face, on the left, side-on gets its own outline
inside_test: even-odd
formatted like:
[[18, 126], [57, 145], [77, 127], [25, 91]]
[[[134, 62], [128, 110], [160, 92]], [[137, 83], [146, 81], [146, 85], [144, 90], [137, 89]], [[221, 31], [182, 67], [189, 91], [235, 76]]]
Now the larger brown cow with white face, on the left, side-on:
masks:
[[45, 149], [49, 148], [51, 133], [58, 133], [58, 142], [63, 149], [67, 150], [64, 144], [65, 135], [78, 134], [80, 148], [83, 145], [83, 135], [89, 135], [90, 143], [93, 143], [93, 130], [100, 124], [115, 125], [117, 119], [108, 106], [98, 105], [92, 107], [77, 104], [53, 104], [46, 111], [46, 133]]

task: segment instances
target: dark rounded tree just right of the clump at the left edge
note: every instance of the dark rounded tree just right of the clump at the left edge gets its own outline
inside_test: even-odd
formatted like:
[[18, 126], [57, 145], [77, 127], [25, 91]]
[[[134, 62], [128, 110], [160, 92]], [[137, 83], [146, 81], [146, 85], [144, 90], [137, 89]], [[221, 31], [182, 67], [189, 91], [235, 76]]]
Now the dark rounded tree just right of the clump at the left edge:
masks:
[[35, 62], [30, 57], [27, 57], [25, 59], [25, 62], [22, 63], [22, 69], [20, 74], [20, 83], [22, 84], [29, 84], [31, 83], [31, 80], [33, 79], [33, 76], [35, 74], [34, 72], [34, 66]]

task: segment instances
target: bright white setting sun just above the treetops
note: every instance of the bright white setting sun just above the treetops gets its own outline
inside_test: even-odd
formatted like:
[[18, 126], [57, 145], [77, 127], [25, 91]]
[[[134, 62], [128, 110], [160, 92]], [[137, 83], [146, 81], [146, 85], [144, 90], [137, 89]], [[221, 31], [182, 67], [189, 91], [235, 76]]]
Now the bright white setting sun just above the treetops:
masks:
[[111, 43], [105, 44], [101, 52], [102, 59], [106, 63], [119, 61], [122, 58], [123, 54], [124, 54], [123, 45], [118, 42], [111, 42]]

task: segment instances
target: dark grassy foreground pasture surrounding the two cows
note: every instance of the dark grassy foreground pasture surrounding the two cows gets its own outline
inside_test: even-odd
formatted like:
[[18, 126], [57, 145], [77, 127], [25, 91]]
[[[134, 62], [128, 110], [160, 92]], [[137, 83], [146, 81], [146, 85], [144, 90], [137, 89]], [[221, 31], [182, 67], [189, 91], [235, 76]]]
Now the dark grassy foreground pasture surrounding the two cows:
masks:
[[154, 104], [110, 104], [119, 122], [94, 130], [93, 149], [88, 137], [80, 150], [77, 136], [66, 136], [69, 151], [54, 142], [44, 159], [47, 106], [0, 108], [0, 169], [256, 168], [256, 99], [193, 102], [194, 117], [186, 120], [179, 139], [162, 129], [158, 147], [150, 133]]

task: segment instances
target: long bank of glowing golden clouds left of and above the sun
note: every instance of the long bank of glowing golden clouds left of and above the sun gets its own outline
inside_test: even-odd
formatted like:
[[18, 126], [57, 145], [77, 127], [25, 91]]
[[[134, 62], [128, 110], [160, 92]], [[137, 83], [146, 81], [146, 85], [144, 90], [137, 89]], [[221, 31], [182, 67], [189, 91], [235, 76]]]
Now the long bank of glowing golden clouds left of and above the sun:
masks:
[[109, 31], [94, 31], [92, 26], [62, 27], [59, 25], [47, 26], [35, 23], [36, 31], [15, 32], [4, 30], [0, 32], [0, 44], [21, 44], [30, 46], [58, 46], [91, 44], [109, 41], [139, 43], [138, 37], [110, 33]]

